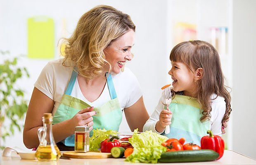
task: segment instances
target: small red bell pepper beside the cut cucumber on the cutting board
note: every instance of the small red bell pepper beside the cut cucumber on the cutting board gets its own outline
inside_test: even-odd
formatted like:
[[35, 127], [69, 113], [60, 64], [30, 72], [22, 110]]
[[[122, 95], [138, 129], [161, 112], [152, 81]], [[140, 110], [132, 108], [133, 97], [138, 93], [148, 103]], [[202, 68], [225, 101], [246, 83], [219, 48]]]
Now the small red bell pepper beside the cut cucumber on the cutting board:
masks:
[[114, 136], [111, 139], [105, 139], [100, 144], [100, 151], [110, 153], [113, 147], [120, 147], [120, 142], [117, 140], [119, 137]]

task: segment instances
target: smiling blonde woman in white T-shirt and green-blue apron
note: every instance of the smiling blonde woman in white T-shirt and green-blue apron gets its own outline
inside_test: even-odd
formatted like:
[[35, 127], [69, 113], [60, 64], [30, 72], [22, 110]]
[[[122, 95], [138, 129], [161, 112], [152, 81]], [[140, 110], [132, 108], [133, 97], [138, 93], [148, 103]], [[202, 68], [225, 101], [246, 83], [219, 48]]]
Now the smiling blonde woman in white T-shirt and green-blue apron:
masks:
[[[73, 149], [76, 126], [118, 130], [122, 111], [131, 130], [149, 118], [142, 92], [131, 71], [135, 25], [130, 16], [100, 5], [83, 14], [65, 57], [49, 62], [35, 83], [24, 125], [24, 144], [36, 148], [43, 113], [52, 113], [54, 138], [60, 149]], [[124, 71], [123, 71], [124, 70]], [[61, 141], [61, 142], [60, 142]]]

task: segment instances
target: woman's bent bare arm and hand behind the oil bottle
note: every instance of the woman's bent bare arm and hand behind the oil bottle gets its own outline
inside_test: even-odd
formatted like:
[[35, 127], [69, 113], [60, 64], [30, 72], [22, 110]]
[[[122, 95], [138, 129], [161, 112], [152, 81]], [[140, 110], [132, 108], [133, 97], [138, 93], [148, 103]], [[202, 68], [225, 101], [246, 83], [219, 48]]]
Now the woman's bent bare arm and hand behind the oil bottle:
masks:
[[[43, 126], [43, 113], [52, 113], [54, 101], [47, 97], [36, 87], [33, 90], [31, 100], [26, 113], [26, 120], [23, 131], [23, 142], [27, 148], [36, 148], [39, 145], [37, 130]], [[59, 142], [74, 133], [75, 126], [90, 125], [92, 130], [92, 115], [95, 115], [93, 108], [85, 108], [79, 111], [73, 118], [57, 123], [52, 126], [55, 142]]]

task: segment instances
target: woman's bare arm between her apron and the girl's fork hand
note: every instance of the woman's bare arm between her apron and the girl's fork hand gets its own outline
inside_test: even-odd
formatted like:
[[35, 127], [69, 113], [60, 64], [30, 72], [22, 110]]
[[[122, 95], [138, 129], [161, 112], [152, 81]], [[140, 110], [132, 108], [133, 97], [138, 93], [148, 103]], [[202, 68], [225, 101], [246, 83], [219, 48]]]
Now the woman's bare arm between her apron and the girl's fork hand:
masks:
[[140, 97], [138, 101], [128, 108], [124, 108], [127, 123], [130, 130], [133, 131], [138, 128], [138, 131], [142, 132], [143, 126], [149, 118], [149, 114], [145, 108], [143, 97]]

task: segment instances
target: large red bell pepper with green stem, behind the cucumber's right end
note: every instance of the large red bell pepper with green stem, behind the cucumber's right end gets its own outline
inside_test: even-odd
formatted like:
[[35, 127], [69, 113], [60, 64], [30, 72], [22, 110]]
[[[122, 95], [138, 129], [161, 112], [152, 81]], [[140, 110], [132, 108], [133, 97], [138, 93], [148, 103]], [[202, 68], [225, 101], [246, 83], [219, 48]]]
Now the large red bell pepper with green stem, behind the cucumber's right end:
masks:
[[223, 156], [225, 149], [224, 140], [218, 135], [213, 136], [210, 130], [207, 131], [207, 134], [209, 134], [209, 136], [204, 136], [201, 138], [201, 148], [211, 149], [217, 152], [219, 154], [218, 159], [220, 159]]

